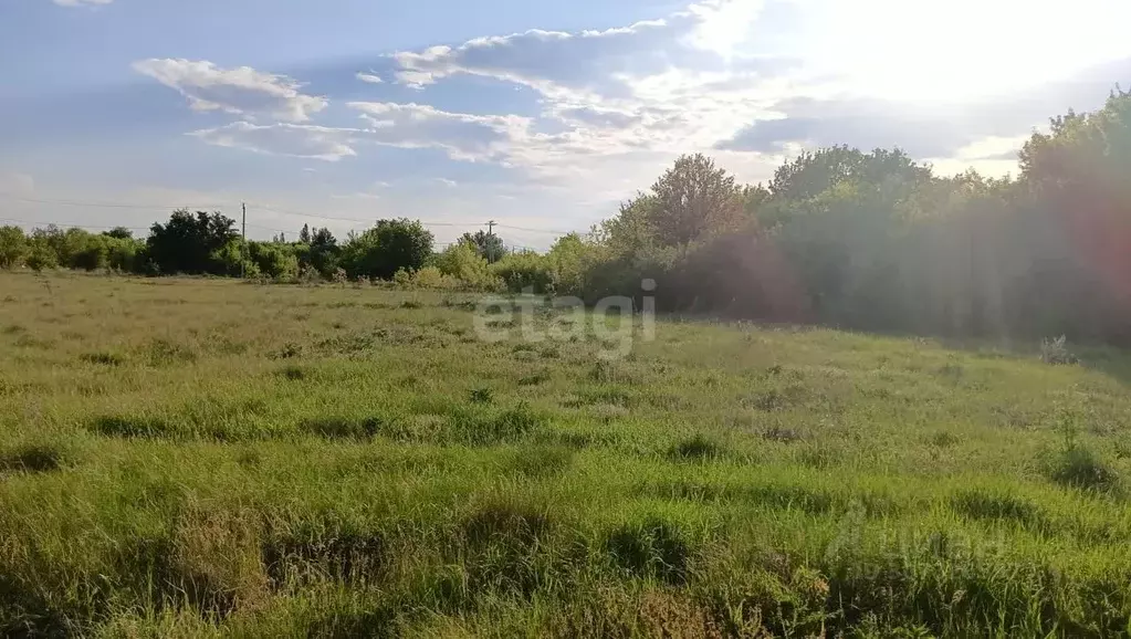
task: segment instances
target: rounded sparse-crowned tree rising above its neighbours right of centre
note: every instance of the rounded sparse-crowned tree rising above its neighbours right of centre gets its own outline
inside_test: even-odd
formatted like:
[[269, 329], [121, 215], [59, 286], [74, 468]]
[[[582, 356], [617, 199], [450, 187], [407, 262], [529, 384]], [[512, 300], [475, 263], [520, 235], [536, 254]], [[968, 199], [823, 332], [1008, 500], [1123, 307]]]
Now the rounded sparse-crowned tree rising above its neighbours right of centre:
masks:
[[684, 155], [651, 187], [648, 216], [663, 245], [687, 247], [708, 230], [732, 226], [740, 217], [741, 190], [734, 178], [702, 155]]

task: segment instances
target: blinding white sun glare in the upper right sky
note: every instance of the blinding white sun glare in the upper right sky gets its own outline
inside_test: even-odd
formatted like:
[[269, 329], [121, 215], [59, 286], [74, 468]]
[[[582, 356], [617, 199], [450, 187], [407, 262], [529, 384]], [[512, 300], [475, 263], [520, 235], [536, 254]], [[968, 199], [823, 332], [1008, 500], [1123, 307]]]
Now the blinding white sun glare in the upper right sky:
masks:
[[1131, 54], [1131, 2], [863, 0], [810, 6], [806, 44], [853, 93], [965, 101], [1070, 78]]

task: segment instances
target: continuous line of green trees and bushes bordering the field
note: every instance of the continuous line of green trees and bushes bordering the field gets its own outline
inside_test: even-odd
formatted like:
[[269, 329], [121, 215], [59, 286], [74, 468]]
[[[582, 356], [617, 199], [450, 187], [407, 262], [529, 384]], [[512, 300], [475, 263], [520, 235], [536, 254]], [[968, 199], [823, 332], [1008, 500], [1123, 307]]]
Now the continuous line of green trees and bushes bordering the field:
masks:
[[808, 152], [766, 184], [703, 155], [677, 159], [587, 234], [507, 253], [489, 233], [435, 252], [420, 222], [379, 221], [338, 242], [247, 242], [218, 214], [175, 211], [145, 240], [0, 228], [0, 267], [102, 268], [640, 296], [657, 308], [957, 336], [1131, 345], [1131, 93], [1051, 120], [1017, 176], [936, 175], [899, 149]]

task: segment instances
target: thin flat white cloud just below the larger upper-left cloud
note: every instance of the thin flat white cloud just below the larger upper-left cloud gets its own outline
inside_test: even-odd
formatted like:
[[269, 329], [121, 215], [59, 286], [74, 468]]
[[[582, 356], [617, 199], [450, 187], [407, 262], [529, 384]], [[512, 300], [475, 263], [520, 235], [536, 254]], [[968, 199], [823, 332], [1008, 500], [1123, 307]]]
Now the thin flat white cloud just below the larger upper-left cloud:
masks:
[[210, 145], [242, 148], [266, 155], [284, 155], [337, 162], [357, 155], [353, 144], [362, 129], [336, 129], [312, 124], [234, 122], [189, 133]]

